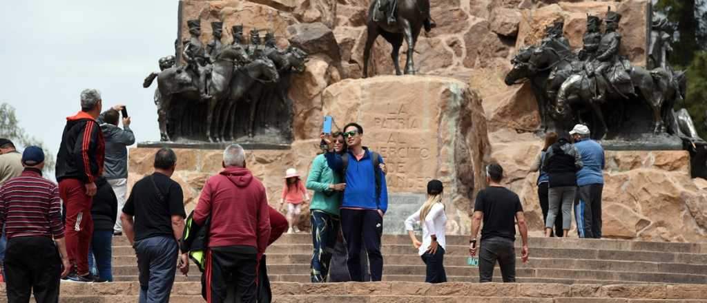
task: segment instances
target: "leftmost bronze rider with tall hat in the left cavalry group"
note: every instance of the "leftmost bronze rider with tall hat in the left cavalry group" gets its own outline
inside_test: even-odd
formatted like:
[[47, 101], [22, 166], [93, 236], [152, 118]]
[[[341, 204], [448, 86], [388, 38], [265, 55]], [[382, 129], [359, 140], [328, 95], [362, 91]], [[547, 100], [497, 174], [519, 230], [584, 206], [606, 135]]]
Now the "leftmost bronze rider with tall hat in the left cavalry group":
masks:
[[[192, 37], [185, 42], [184, 59], [187, 61], [185, 70], [189, 70], [193, 75], [199, 78], [197, 87], [199, 88], [201, 98], [209, 99], [210, 96], [206, 92], [206, 75], [208, 74], [206, 64], [209, 62], [209, 59], [206, 58], [204, 46], [201, 44], [201, 41], [199, 41], [199, 36], [201, 35], [201, 20], [188, 20], [187, 26], [189, 27], [189, 35]], [[177, 73], [181, 73], [181, 70], [178, 70]]]

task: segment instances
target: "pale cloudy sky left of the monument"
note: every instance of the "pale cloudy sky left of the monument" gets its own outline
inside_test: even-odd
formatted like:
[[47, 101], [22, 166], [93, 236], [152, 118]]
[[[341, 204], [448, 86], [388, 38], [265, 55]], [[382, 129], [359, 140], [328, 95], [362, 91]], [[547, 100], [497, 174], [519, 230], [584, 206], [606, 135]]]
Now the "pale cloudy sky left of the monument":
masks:
[[0, 103], [26, 132], [59, 151], [79, 94], [99, 89], [103, 109], [125, 104], [137, 142], [159, 140], [158, 58], [174, 54], [177, 0], [1, 1]]

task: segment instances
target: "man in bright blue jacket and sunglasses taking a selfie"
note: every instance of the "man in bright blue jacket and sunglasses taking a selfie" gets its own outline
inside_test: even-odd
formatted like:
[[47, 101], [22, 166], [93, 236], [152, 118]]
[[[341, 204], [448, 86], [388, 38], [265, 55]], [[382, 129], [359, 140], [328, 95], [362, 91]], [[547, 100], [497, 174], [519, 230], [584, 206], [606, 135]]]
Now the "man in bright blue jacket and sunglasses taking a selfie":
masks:
[[380, 237], [383, 233], [383, 215], [388, 206], [385, 174], [379, 163], [382, 157], [363, 147], [363, 128], [357, 123], [344, 127], [344, 138], [349, 152], [339, 155], [334, 152], [331, 137], [324, 137], [332, 147], [325, 154], [329, 168], [344, 176], [344, 197], [341, 201], [341, 231], [346, 240], [351, 280], [363, 282], [361, 272], [361, 235], [368, 252], [370, 280], [380, 281], [383, 272], [383, 256], [380, 254]]

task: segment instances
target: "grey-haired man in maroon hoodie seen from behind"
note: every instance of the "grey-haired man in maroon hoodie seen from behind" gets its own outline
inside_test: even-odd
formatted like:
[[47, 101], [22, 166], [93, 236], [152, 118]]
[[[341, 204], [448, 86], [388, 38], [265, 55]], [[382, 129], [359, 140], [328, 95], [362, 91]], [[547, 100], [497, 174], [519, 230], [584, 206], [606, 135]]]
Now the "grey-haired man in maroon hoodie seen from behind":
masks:
[[223, 152], [223, 168], [206, 181], [194, 209], [197, 224], [211, 216], [206, 277], [201, 280], [209, 303], [225, 302], [229, 285], [238, 285], [234, 297], [240, 302], [255, 303], [257, 258], [265, 252], [271, 231], [267, 195], [245, 168], [240, 145], [231, 144]]

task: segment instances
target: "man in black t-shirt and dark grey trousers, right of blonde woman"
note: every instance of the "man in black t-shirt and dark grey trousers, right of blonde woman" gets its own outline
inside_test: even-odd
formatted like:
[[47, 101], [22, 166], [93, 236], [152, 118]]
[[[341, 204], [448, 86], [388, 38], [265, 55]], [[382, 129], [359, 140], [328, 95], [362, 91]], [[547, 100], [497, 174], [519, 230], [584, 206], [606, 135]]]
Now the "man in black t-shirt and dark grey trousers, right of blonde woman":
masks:
[[481, 252], [479, 252], [479, 282], [491, 282], [493, 266], [501, 267], [504, 283], [515, 282], [515, 221], [522, 237], [522, 261], [528, 259], [528, 227], [523, 216], [523, 206], [518, 194], [500, 184], [503, 178], [503, 168], [498, 163], [486, 166], [485, 190], [477, 194], [472, 218], [472, 239], [469, 240], [469, 254], [477, 254], [477, 235], [481, 221]]

